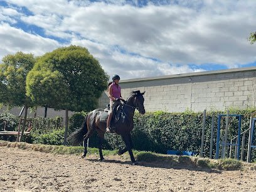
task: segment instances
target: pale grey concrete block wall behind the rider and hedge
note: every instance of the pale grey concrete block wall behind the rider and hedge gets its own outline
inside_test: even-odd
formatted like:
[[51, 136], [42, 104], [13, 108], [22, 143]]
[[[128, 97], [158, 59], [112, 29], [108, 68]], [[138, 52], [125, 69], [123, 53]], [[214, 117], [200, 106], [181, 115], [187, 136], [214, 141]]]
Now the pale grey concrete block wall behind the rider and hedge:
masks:
[[[122, 97], [146, 91], [146, 111], [183, 112], [255, 107], [256, 67], [121, 80]], [[102, 93], [99, 108], [109, 103]]]

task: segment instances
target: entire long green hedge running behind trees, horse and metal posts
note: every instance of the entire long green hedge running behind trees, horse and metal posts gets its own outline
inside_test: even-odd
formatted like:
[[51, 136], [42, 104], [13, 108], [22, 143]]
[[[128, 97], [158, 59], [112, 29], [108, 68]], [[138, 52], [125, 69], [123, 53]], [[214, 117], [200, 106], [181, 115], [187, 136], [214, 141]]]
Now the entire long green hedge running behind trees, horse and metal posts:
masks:
[[[215, 154], [216, 144], [216, 130], [217, 130], [217, 116], [218, 114], [225, 114], [225, 112], [207, 112], [206, 114], [206, 128], [205, 128], [205, 154], [209, 156], [210, 149], [210, 135], [211, 135], [211, 117], [215, 117], [214, 137], [213, 137], [213, 154]], [[250, 116], [256, 117], [255, 109], [238, 110], [230, 109], [230, 114], [242, 114], [242, 130], [248, 129], [250, 124]], [[3, 119], [4, 114], [0, 118]], [[68, 133], [80, 128], [85, 117], [85, 113], [76, 113], [69, 119]], [[11, 118], [10, 124], [15, 127], [18, 125], [16, 117], [7, 115]], [[7, 118], [7, 117], [4, 117]], [[61, 117], [53, 119], [37, 117], [33, 120], [33, 131], [31, 135], [26, 138], [30, 143], [42, 144], [62, 144], [64, 125]], [[152, 151], [166, 154], [168, 149], [180, 151], [195, 151], [200, 152], [201, 146], [201, 130], [203, 123], [202, 112], [185, 111], [181, 113], [168, 112], [147, 112], [145, 115], [136, 113], [134, 115], [134, 130], [132, 131], [132, 141], [134, 142], [134, 149], [138, 151]], [[1, 124], [1, 119], [0, 119]], [[225, 117], [221, 119], [221, 133], [224, 134]], [[11, 128], [13, 130], [13, 128]], [[14, 128], [15, 129], [15, 128]], [[237, 136], [238, 119], [230, 117], [228, 138]], [[8, 128], [9, 130], [9, 128]], [[255, 131], [256, 132], [256, 131]], [[245, 155], [247, 152], [247, 140], [245, 141]], [[254, 136], [256, 138], [256, 136]], [[241, 138], [242, 139], [242, 138]], [[254, 141], [255, 143], [255, 141]], [[90, 138], [90, 147], [98, 146], [98, 138], [96, 134]], [[104, 149], [119, 149], [124, 147], [124, 142], [115, 134], [105, 134]], [[253, 159], [256, 159], [256, 150], [253, 149]]]

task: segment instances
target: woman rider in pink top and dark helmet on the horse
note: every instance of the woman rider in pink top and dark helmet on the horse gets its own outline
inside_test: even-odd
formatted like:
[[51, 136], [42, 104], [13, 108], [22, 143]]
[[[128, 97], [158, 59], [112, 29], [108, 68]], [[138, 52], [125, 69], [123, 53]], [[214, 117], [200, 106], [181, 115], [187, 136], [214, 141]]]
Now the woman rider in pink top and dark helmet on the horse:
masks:
[[109, 84], [109, 99], [110, 99], [110, 110], [109, 110], [109, 117], [107, 117], [107, 129], [106, 132], [110, 131], [110, 121], [113, 115], [113, 108], [117, 105], [120, 105], [121, 96], [121, 87], [119, 86], [119, 75], [113, 75], [112, 77], [113, 82]]

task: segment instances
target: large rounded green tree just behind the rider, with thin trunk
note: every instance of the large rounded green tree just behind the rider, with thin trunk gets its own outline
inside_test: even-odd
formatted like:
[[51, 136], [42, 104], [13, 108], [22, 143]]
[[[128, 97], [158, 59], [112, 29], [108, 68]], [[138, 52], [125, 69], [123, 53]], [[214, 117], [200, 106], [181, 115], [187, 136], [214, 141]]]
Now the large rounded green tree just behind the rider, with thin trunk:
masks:
[[38, 105], [80, 112], [97, 107], [107, 88], [108, 75], [87, 48], [68, 46], [41, 56], [28, 74], [26, 90]]

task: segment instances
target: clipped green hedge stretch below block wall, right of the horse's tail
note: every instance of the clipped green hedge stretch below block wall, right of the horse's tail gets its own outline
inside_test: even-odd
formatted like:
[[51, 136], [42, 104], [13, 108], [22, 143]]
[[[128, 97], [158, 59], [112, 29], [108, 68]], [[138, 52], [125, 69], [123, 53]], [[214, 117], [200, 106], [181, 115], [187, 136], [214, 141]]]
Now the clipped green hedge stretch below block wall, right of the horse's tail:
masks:
[[[215, 117], [213, 132], [213, 157], [216, 152], [216, 132], [218, 114], [226, 112], [207, 112], [205, 125], [205, 145], [203, 156], [210, 154], [211, 117]], [[241, 132], [250, 126], [250, 116], [256, 117], [255, 109], [238, 110], [230, 109], [230, 114], [242, 114]], [[182, 113], [168, 112], [147, 112], [145, 115], [136, 113], [134, 116], [134, 130], [132, 131], [132, 141], [134, 149], [139, 151], [152, 151], [166, 154], [168, 149], [180, 151], [195, 151], [200, 153], [201, 131], [203, 124], [202, 112], [186, 111]], [[225, 131], [225, 117], [221, 118], [221, 134]], [[238, 119], [230, 117], [228, 126], [228, 138], [233, 138], [238, 134]], [[254, 136], [256, 138], [256, 136]], [[89, 146], [97, 147], [95, 136], [90, 139]], [[242, 140], [242, 136], [241, 136]], [[254, 143], [255, 143], [254, 139]], [[247, 153], [248, 132], [245, 140], [245, 155]], [[105, 149], [118, 149], [124, 146], [120, 136], [115, 134], [105, 134]], [[234, 149], [234, 148], [233, 148]], [[233, 150], [234, 151], [234, 150]], [[252, 150], [252, 158], [256, 159], [256, 150]]]

